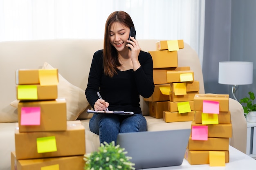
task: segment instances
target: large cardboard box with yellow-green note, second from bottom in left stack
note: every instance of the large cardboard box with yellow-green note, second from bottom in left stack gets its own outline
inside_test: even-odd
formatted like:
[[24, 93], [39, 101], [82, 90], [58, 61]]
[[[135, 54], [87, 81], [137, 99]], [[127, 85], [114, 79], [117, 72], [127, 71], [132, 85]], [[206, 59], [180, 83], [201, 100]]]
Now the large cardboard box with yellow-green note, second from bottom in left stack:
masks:
[[[85, 154], [85, 128], [81, 124], [81, 121], [67, 121], [66, 131], [19, 132], [18, 123], [16, 127], [15, 149], [16, 159], [18, 160], [65, 157]], [[46, 143], [45, 141], [48, 142]], [[54, 148], [54, 143], [56, 143], [56, 151], [49, 151], [54, 150], [52, 149]], [[46, 149], [49, 150], [47, 152], [45, 152], [45, 150], [41, 152], [43, 149], [42, 146], [46, 144]], [[38, 149], [40, 150], [39, 153]]]

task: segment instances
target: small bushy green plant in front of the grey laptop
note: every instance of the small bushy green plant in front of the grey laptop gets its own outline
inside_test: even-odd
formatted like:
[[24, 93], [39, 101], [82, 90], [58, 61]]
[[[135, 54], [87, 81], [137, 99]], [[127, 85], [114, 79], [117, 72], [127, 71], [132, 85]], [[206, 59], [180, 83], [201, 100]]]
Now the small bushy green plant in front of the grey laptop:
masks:
[[126, 156], [124, 148], [119, 145], [115, 146], [112, 141], [109, 144], [104, 142], [99, 147], [98, 152], [92, 152], [84, 155], [85, 170], [135, 170], [135, 164], [129, 160], [131, 157]]

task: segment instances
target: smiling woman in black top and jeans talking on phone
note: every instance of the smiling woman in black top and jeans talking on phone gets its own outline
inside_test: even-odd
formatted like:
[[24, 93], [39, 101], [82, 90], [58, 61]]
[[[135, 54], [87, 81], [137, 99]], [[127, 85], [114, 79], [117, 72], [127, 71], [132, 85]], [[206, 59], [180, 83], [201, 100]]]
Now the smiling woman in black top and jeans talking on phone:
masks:
[[146, 131], [147, 128], [139, 95], [148, 98], [153, 94], [153, 60], [149, 53], [141, 51], [135, 38], [128, 40], [130, 27], [134, 25], [128, 13], [111, 13], [105, 25], [103, 50], [95, 52], [92, 59], [85, 90], [90, 105], [95, 111], [135, 113], [134, 116], [94, 114], [89, 127], [99, 135], [100, 143], [116, 143], [118, 133]]

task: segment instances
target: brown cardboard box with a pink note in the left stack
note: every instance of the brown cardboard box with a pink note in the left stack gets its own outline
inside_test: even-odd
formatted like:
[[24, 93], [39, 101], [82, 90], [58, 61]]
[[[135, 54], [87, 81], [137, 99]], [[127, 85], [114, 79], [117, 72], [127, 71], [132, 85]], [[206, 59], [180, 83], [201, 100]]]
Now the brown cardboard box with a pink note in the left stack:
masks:
[[[40, 107], [40, 125], [21, 125], [20, 118], [21, 110], [23, 107]], [[19, 102], [18, 124], [19, 132], [67, 130], [66, 100], [56, 99], [33, 102]]]

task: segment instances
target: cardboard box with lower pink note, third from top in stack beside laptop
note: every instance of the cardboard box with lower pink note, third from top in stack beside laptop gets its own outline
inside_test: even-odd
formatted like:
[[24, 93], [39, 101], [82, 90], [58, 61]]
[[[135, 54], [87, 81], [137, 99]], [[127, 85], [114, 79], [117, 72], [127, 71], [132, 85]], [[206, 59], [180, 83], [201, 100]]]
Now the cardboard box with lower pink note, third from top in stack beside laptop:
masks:
[[224, 138], [232, 137], [232, 124], [203, 125], [203, 124], [196, 124], [195, 121], [192, 121], [191, 129], [192, 129], [192, 126], [208, 126], [208, 137], [224, 137]]

